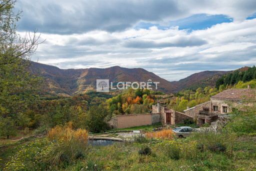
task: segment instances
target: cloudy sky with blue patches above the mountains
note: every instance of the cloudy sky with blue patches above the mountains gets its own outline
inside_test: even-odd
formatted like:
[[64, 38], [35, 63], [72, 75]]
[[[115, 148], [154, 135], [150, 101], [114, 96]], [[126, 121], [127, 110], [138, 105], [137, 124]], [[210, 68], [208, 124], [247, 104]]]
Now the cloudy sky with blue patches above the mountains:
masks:
[[18, 0], [32, 60], [59, 68], [141, 67], [167, 80], [256, 64], [256, 0]]

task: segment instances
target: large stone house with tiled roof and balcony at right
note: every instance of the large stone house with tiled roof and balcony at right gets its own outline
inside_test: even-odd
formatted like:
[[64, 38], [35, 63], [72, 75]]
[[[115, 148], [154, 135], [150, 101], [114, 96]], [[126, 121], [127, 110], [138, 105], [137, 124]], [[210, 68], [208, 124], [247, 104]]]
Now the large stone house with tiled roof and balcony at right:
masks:
[[251, 106], [255, 103], [255, 90], [250, 88], [230, 88], [212, 97], [210, 100], [184, 110], [184, 113], [196, 119], [200, 126], [217, 120], [218, 116], [240, 108], [244, 105]]

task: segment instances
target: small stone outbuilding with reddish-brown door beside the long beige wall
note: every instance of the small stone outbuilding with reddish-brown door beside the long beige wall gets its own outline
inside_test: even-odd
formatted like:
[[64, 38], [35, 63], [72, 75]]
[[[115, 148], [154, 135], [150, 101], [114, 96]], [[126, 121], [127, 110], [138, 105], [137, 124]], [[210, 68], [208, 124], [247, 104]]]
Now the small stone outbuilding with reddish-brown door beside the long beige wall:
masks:
[[160, 102], [157, 102], [156, 105], [152, 105], [152, 113], [160, 114], [160, 121], [162, 124], [178, 124], [184, 123], [186, 118], [192, 118], [192, 116], [187, 115], [182, 112], [172, 110], [167, 107], [160, 106]]

